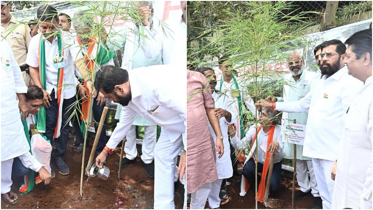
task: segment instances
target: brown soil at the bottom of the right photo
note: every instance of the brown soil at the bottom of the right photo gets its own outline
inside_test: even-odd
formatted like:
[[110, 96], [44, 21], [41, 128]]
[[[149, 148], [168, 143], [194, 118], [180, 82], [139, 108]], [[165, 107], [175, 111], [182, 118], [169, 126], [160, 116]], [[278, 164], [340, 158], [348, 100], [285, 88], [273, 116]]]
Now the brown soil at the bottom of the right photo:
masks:
[[[245, 196], [240, 196], [241, 176], [233, 176], [234, 180], [231, 185], [227, 186], [228, 200], [222, 201], [221, 209], [255, 209], [255, 192], [253, 186], [248, 189]], [[283, 177], [281, 181], [281, 188], [278, 192], [269, 195], [269, 198], [279, 199], [275, 209], [291, 209], [291, 193], [293, 180]], [[299, 189], [299, 186], [295, 189]], [[295, 209], [311, 209], [312, 194], [309, 193], [299, 201], [295, 201]], [[275, 203], [273, 203], [275, 204]], [[208, 205], [207, 205], [208, 206]], [[266, 208], [264, 204], [258, 202], [258, 209]]]

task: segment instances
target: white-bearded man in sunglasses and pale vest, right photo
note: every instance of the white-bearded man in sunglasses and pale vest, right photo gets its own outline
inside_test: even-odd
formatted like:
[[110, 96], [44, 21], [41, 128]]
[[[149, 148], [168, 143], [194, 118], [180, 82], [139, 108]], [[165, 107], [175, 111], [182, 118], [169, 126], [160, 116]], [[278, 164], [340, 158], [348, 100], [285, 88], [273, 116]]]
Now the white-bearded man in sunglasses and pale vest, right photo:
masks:
[[[311, 85], [320, 78], [316, 72], [307, 71], [304, 64], [303, 56], [298, 51], [292, 51], [288, 56], [288, 68], [290, 74], [284, 75], [284, 87], [282, 89], [283, 98], [273, 98], [274, 101], [298, 101], [303, 98], [311, 90]], [[282, 124], [293, 123], [296, 120], [297, 124], [305, 125], [307, 123], [308, 110], [300, 113], [282, 114]], [[291, 159], [294, 163], [294, 146], [289, 142], [289, 131], [282, 127], [282, 139], [284, 141], [284, 158]], [[312, 209], [322, 209], [322, 200], [320, 198], [319, 190], [317, 189], [316, 178], [313, 172], [311, 158], [302, 155], [303, 145], [297, 145], [297, 180], [300, 190], [295, 191], [295, 200], [300, 200], [308, 192], [313, 195]], [[310, 178], [308, 179], [308, 172]]]

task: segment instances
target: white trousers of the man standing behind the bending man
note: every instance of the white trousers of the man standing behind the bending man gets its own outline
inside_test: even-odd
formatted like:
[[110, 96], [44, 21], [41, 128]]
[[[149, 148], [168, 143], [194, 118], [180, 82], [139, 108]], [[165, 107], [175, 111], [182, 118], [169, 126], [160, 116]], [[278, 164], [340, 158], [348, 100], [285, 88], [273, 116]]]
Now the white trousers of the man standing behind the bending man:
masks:
[[[144, 140], [142, 141], [141, 160], [145, 164], [151, 163], [154, 159], [154, 146], [157, 140], [157, 126], [144, 126]], [[132, 125], [127, 133], [127, 142], [124, 144], [126, 158], [134, 160], [137, 157], [136, 149], [136, 126]]]

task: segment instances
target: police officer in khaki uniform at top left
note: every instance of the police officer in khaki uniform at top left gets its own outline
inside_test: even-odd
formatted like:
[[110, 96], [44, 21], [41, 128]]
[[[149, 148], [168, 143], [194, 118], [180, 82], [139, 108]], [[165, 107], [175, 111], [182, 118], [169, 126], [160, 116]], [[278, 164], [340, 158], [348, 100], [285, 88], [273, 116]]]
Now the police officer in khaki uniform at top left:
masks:
[[[10, 13], [8, 1], [1, 1], [1, 35], [10, 44], [16, 61], [21, 68], [23, 80], [26, 86], [30, 86], [31, 77], [26, 65], [26, 56], [31, 41], [30, 28], [27, 24], [19, 24]], [[9, 29], [9, 30], [8, 30]]]

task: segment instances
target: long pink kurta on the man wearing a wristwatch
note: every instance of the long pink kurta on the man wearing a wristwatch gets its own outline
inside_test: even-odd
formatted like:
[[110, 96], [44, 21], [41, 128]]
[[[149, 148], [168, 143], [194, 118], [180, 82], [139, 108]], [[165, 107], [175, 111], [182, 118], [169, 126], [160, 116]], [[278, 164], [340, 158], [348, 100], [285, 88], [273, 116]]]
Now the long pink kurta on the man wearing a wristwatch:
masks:
[[[205, 188], [205, 185], [217, 180], [216, 154], [214, 142], [209, 132], [207, 123], [206, 108], [214, 108], [214, 99], [212, 98], [210, 86], [206, 78], [200, 72], [187, 70], [187, 193], [192, 193], [191, 209], [193, 203], [193, 193], [199, 189]], [[202, 199], [204, 194], [196, 195], [198, 200]], [[207, 193], [208, 196], [209, 193]], [[203, 201], [200, 202], [201, 205]], [[204, 204], [203, 204], [204, 207]], [[202, 208], [203, 208], [202, 207]]]

